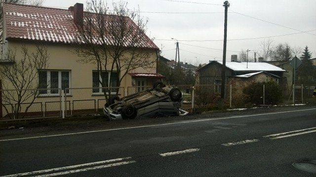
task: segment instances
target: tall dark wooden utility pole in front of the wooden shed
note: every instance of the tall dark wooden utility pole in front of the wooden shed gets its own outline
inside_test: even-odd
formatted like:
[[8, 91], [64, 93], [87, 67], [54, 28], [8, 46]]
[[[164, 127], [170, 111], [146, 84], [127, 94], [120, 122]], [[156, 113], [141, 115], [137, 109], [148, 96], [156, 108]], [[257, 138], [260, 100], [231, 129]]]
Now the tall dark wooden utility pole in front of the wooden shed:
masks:
[[223, 46], [223, 66], [222, 66], [222, 84], [221, 84], [221, 109], [224, 109], [225, 102], [225, 76], [226, 76], [226, 43], [227, 43], [227, 11], [229, 7], [229, 2], [226, 0], [224, 2], [225, 7], [225, 21], [224, 21], [224, 46]]

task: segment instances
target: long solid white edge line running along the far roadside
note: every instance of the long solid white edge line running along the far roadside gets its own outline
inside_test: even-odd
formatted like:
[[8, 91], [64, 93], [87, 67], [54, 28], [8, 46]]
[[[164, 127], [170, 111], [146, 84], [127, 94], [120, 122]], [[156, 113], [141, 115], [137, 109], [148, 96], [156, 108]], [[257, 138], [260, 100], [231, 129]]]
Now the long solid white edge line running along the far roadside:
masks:
[[47, 135], [47, 136], [17, 138], [17, 139], [7, 139], [7, 140], [0, 140], [0, 142], [15, 141], [15, 140], [27, 140], [27, 139], [36, 139], [36, 138], [47, 138], [47, 137], [60, 137], [60, 136], [68, 136], [68, 135], [79, 135], [79, 134], [87, 134], [87, 133], [108, 132], [108, 131], [115, 131], [115, 130], [137, 129], [137, 128], [145, 128], [145, 127], [157, 127], [157, 126], [165, 126], [165, 125], [185, 124], [185, 123], [222, 120], [222, 119], [231, 119], [231, 118], [241, 118], [241, 117], [254, 117], [254, 116], [258, 116], [258, 115], [281, 114], [281, 113], [299, 112], [299, 111], [314, 110], [314, 109], [316, 109], [316, 108], [302, 109], [302, 110], [291, 110], [291, 111], [283, 111], [283, 112], [273, 112], [273, 113], [264, 113], [264, 114], [255, 114], [255, 115], [240, 115], [240, 116], [223, 117], [223, 118], [209, 118], [209, 119], [201, 119], [201, 120], [190, 120], [190, 121], [173, 122], [173, 123], [165, 123], [165, 124], [144, 125], [144, 126], [137, 126], [137, 127], [125, 127], [125, 128], [117, 128], [117, 129], [96, 130], [96, 131], [77, 132], [77, 133], [68, 133], [68, 134], [57, 134], [57, 135]]

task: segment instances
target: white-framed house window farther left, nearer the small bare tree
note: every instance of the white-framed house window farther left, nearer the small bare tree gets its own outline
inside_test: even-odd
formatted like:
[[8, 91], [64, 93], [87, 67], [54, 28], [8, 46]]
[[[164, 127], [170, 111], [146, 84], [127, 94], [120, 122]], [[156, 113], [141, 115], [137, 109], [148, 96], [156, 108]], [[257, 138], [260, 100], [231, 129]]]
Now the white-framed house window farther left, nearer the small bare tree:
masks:
[[[60, 94], [60, 89], [70, 87], [70, 71], [39, 71], [40, 94]], [[66, 90], [69, 94], [69, 89]]]

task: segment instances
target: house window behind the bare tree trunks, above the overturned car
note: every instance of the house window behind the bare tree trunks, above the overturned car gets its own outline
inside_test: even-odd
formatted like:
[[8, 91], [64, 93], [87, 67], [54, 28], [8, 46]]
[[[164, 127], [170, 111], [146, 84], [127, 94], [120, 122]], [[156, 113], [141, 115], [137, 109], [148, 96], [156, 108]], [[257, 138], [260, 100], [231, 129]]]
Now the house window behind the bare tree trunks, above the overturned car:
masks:
[[[111, 73], [111, 74], [110, 74]], [[111, 79], [110, 79], [111, 77]], [[102, 84], [100, 83], [102, 82]], [[99, 72], [92, 71], [92, 93], [102, 94], [105, 89], [100, 87], [117, 87], [118, 86], [118, 72]], [[110, 88], [110, 93], [116, 93], [118, 88]]]

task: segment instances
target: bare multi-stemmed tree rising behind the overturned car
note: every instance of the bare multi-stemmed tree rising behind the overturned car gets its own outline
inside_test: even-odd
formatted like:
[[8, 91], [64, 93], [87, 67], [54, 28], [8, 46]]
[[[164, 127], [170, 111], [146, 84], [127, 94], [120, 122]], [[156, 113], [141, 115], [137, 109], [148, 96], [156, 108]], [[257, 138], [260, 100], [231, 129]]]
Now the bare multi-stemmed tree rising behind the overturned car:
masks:
[[[145, 35], [148, 21], [140, 17], [139, 10], [128, 9], [125, 2], [113, 2], [113, 6], [110, 12], [102, 0], [91, 0], [86, 7], [89, 13], [84, 13], [83, 22], [77, 24], [79, 62], [96, 64], [101, 78], [107, 72], [113, 80], [109, 85], [105, 79], [99, 79], [102, 87], [119, 87], [128, 72], [137, 68], [153, 70], [157, 63], [157, 58], [149, 60], [155, 49], [148, 49], [145, 44], [150, 41]], [[104, 92], [106, 99], [108, 91]]]

